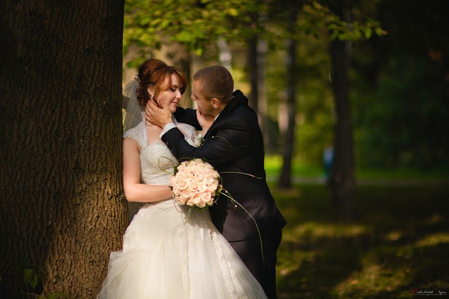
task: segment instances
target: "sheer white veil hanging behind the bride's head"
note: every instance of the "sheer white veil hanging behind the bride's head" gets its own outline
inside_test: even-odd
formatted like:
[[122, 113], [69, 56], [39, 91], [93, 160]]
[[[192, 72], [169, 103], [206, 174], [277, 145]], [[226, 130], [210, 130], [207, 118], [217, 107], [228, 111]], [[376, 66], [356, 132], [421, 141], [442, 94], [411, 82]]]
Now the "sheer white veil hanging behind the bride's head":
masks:
[[138, 78], [129, 81], [123, 89], [123, 104], [126, 113], [123, 121], [123, 133], [139, 125], [142, 122], [142, 112], [144, 111], [137, 101], [136, 91], [139, 87]]

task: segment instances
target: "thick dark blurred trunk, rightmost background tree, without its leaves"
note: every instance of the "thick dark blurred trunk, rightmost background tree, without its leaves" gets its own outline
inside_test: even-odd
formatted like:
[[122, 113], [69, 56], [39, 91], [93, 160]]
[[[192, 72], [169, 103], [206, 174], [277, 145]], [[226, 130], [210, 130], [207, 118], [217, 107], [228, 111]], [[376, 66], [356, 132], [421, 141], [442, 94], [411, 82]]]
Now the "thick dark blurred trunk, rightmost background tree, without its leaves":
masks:
[[[347, 7], [333, 7], [333, 10], [342, 19], [349, 21], [350, 11]], [[329, 184], [332, 189], [333, 205], [338, 212], [338, 217], [352, 219], [356, 216], [356, 195], [348, 79], [350, 42], [333, 40], [330, 44], [330, 58], [337, 123], [334, 137], [334, 160]]]

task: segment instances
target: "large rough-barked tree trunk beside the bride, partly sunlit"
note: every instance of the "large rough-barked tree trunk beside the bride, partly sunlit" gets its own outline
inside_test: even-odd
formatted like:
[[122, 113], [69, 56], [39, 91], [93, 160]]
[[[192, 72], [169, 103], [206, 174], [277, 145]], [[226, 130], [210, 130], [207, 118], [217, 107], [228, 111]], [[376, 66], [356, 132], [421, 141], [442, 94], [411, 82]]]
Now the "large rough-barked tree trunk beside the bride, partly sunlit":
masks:
[[[123, 10], [0, 4], [2, 298], [94, 298], [121, 249]], [[22, 259], [39, 273], [34, 290], [12, 275]]]

